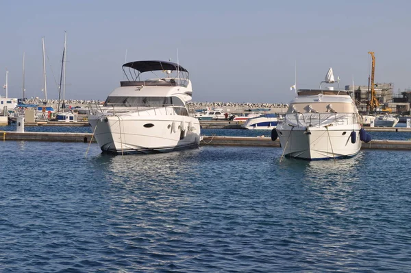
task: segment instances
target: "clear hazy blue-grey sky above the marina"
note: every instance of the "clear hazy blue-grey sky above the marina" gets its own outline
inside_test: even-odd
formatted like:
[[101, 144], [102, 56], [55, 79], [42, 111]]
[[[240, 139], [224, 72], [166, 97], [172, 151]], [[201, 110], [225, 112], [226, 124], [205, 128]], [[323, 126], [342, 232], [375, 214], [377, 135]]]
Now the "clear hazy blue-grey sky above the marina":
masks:
[[[125, 60], [177, 60], [190, 71], [195, 102], [289, 102], [297, 87], [316, 88], [327, 69], [340, 86], [411, 86], [411, 1], [1, 1], [0, 82], [21, 97], [55, 84], [67, 32], [66, 99], [101, 99], [123, 80]], [[54, 73], [54, 77], [53, 77]], [[55, 80], [54, 80], [55, 79]], [[5, 95], [5, 91], [1, 91]]]

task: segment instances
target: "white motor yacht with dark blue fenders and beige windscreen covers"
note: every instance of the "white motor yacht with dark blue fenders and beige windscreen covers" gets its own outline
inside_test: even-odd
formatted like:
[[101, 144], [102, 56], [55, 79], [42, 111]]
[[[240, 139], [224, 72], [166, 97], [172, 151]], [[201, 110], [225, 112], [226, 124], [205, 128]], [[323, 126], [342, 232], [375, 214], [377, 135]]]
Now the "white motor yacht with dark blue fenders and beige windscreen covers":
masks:
[[[331, 68], [323, 83], [338, 84]], [[319, 89], [299, 89], [283, 122], [272, 131], [271, 139], [279, 137], [285, 156], [309, 160], [354, 156], [362, 140], [371, 141], [349, 91], [321, 84]]]

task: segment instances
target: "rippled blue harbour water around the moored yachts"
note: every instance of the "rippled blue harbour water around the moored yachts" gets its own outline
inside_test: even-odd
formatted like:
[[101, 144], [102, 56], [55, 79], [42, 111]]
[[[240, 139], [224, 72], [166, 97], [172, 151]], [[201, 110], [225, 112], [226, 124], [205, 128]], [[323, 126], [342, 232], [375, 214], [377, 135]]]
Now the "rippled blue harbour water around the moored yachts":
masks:
[[0, 272], [411, 271], [408, 151], [0, 149]]

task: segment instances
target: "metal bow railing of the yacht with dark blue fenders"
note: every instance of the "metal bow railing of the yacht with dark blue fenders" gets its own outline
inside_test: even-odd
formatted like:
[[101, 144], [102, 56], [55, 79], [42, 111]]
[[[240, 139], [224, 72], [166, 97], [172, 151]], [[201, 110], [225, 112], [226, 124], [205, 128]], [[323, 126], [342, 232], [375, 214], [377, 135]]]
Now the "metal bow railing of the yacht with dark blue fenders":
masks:
[[293, 112], [284, 116], [283, 122], [288, 126], [294, 127], [323, 127], [350, 125], [360, 122], [360, 117], [356, 113], [341, 112]]

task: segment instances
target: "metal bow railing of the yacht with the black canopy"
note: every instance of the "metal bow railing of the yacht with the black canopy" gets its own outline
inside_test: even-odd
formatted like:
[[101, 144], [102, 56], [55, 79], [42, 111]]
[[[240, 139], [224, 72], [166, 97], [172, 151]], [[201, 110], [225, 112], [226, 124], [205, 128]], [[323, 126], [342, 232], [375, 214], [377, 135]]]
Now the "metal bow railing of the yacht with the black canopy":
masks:
[[153, 115], [180, 115], [188, 116], [186, 106], [174, 104], [88, 104], [90, 115], [113, 116], [125, 113], [137, 113], [152, 110]]

